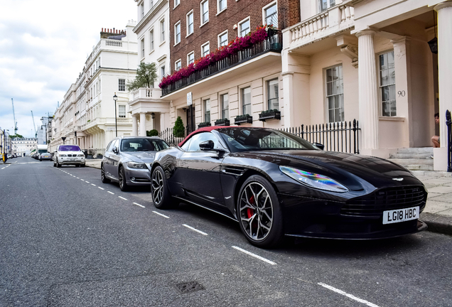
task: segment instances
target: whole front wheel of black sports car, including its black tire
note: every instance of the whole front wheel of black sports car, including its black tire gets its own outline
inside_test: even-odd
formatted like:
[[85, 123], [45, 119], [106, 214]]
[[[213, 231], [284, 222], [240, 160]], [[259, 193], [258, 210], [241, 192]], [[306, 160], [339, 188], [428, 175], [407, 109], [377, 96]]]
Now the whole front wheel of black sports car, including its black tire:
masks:
[[247, 240], [257, 247], [272, 248], [282, 243], [283, 218], [278, 196], [267, 179], [249, 177], [237, 197], [237, 220]]

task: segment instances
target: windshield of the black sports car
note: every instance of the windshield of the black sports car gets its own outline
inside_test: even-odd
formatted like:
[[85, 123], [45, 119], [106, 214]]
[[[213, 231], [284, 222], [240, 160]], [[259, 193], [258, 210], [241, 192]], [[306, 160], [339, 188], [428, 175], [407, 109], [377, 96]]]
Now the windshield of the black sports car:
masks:
[[231, 151], [318, 149], [294, 134], [274, 129], [231, 127], [217, 129], [217, 131], [220, 132]]

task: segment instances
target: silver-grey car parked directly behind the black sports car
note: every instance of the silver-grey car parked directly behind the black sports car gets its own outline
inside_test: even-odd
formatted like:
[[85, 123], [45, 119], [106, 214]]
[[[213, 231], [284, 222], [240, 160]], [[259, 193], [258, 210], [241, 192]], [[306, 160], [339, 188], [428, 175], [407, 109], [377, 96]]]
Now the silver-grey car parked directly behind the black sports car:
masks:
[[129, 185], [149, 185], [157, 151], [169, 146], [157, 136], [119, 136], [107, 146], [100, 165], [102, 183], [116, 181], [121, 190]]

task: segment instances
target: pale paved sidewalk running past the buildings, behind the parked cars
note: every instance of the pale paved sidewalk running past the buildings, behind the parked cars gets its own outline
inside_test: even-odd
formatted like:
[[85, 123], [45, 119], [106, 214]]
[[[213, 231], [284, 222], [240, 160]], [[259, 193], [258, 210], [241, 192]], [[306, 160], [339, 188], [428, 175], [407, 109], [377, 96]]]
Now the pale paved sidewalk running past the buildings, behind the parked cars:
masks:
[[[100, 169], [101, 159], [86, 160], [86, 166]], [[444, 171], [413, 171], [429, 190], [421, 220], [429, 230], [452, 235], [452, 173]]]

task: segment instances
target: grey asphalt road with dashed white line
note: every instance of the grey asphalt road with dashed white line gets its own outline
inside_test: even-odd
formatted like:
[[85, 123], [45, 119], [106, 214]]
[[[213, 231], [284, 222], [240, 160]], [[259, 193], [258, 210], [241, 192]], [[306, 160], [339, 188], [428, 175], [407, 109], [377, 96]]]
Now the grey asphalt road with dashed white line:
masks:
[[[452, 306], [452, 237], [248, 244], [193, 205], [156, 210], [95, 168], [0, 164], [0, 306]], [[251, 254], [249, 254], [251, 253]], [[198, 291], [177, 285], [196, 281]]]

